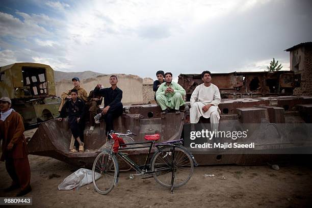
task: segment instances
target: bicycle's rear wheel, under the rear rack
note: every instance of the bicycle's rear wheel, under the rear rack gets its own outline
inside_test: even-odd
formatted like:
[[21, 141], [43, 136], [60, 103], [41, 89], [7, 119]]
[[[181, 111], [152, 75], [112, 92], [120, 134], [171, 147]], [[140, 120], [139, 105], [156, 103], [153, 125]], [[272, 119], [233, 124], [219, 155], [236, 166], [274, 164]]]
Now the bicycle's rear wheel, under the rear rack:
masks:
[[[174, 160], [173, 160], [174, 149]], [[174, 171], [173, 188], [185, 185], [193, 175], [194, 164], [191, 155], [183, 148], [175, 146], [162, 147], [154, 153], [151, 160], [153, 176], [160, 185], [171, 188]]]

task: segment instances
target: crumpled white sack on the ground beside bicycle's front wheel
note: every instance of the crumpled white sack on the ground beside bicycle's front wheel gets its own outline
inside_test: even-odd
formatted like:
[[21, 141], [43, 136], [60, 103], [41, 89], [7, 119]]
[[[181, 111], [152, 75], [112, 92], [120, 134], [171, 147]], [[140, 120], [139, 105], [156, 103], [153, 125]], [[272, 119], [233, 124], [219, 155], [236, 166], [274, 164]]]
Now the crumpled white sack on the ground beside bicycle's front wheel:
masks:
[[[100, 178], [101, 174], [95, 172], [95, 180]], [[70, 190], [77, 187], [82, 187], [92, 182], [92, 170], [80, 168], [69, 176], [59, 185], [59, 190]]]

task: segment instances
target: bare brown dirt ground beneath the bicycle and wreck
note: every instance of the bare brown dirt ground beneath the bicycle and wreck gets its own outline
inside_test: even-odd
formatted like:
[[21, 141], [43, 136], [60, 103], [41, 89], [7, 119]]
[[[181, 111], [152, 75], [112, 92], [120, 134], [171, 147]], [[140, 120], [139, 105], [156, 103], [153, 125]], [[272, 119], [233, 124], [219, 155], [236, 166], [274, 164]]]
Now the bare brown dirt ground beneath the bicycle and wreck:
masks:
[[[173, 194], [153, 178], [128, 179], [131, 172], [122, 172], [118, 185], [108, 195], [100, 195], [92, 183], [77, 190], [58, 190], [64, 178], [77, 170], [73, 166], [36, 155], [29, 155], [29, 161], [33, 191], [25, 196], [33, 197], [33, 207], [311, 207], [312, 204], [311, 165], [288, 164], [278, 171], [269, 166], [196, 167], [191, 180]], [[223, 175], [225, 180], [205, 174], [217, 178]], [[3, 162], [0, 178], [0, 196], [15, 196], [18, 190], [2, 191], [11, 184]]]

